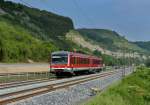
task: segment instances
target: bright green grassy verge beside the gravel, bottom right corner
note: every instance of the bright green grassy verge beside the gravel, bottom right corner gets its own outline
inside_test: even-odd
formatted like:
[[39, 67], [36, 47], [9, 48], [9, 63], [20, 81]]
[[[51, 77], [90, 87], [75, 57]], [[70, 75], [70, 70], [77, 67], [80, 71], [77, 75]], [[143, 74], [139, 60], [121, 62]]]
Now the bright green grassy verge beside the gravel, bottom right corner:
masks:
[[150, 105], [150, 69], [138, 69], [85, 105]]

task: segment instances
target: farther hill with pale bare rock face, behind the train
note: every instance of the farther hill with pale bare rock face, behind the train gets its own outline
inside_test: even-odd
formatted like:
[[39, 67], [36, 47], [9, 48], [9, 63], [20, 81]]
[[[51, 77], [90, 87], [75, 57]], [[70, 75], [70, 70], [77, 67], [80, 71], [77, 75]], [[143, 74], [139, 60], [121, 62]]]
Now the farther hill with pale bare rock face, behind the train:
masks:
[[[66, 34], [66, 38], [81, 48], [92, 52], [98, 50], [102, 54], [117, 57], [141, 57], [149, 51], [129, 42], [118, 33], [107, 29], [77, 29]], [[134, 56], [133, 56], [134, 52]], [[144, 58], [146, 56], [143, 56]]]

